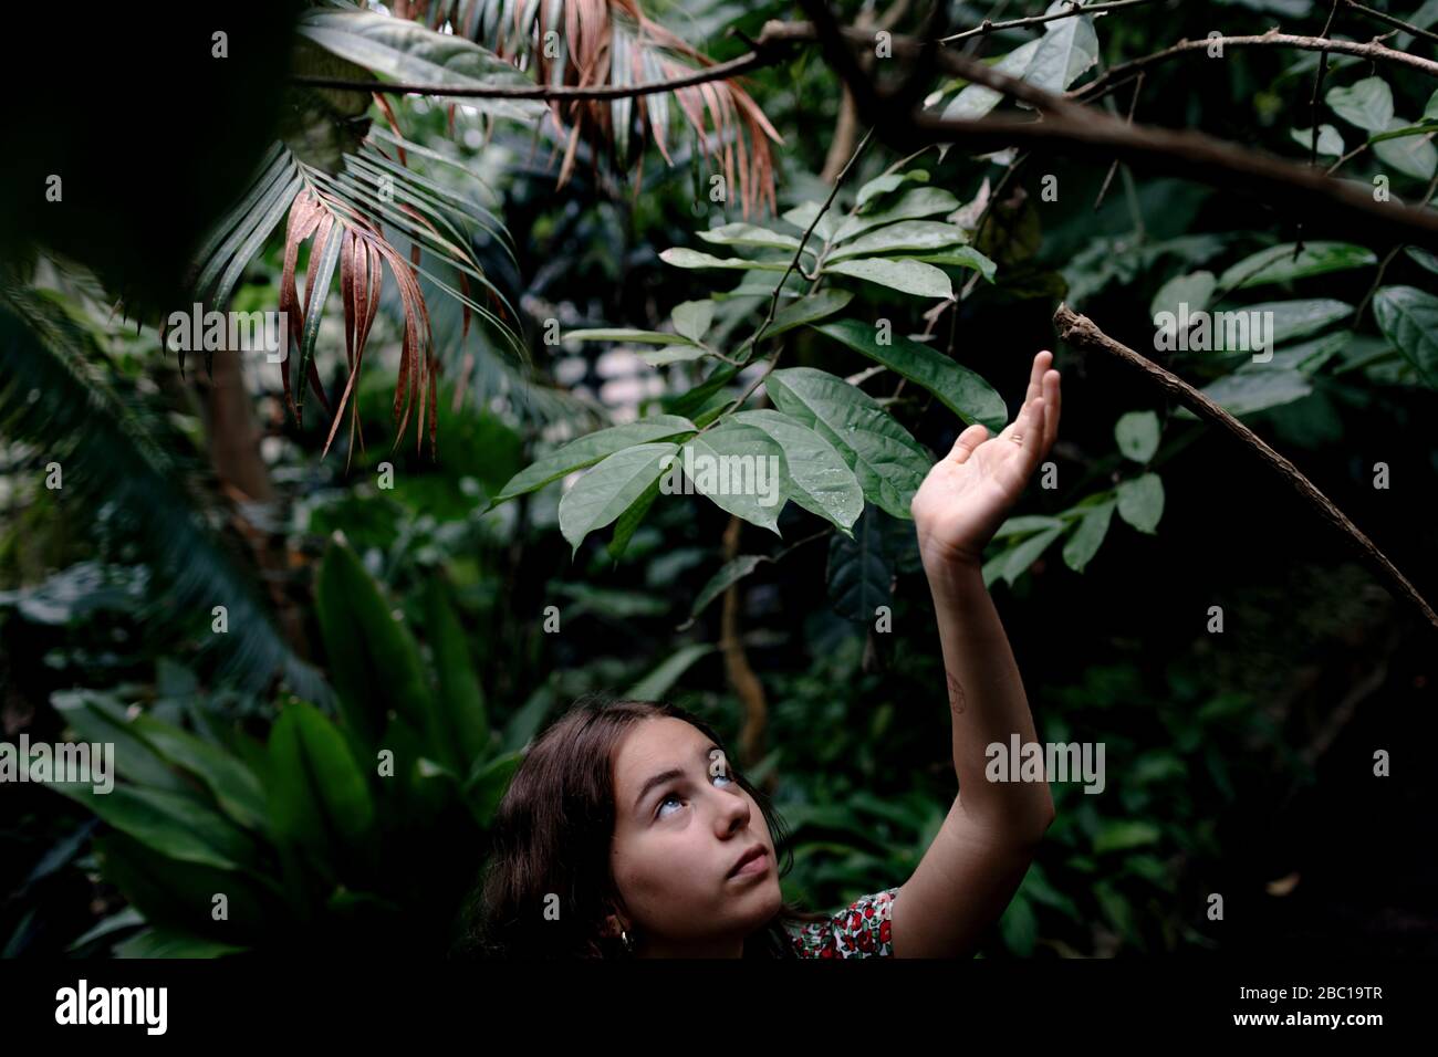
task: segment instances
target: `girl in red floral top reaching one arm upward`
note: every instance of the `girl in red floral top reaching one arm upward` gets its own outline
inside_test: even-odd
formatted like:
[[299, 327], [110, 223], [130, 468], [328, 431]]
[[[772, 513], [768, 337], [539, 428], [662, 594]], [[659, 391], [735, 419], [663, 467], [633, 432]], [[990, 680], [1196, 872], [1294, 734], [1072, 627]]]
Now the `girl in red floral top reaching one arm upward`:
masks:
[[[1058, 430], [1058, 371], [1034, 357], [1018, 418], [959, 434], [910, 511], [939, 623], [961, 795], [913, 876], [834, 915], [779, 892], [787, 844], [723, 742], [670, 705], [585, 699], [535, 741], [499, 807], [483, 943], [500, 956], [955, 958], [1022, 880], [1047, 782], [985, 779], [985, 748], [1037, 741], [981, 555]], [[785, 870], [789, 863], [785, 863]]]

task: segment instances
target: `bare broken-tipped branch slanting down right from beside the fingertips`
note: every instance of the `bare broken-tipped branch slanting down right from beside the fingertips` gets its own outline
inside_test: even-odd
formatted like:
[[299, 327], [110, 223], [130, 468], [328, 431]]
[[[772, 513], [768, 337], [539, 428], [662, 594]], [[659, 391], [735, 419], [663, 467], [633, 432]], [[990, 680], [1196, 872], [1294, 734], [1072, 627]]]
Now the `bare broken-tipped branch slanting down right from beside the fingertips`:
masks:
[[1073, 312], [1067, 305], [1060, 305], [1058, 311], [1054, 312], [1054, 325], [1058, 328], [1058, 337], [1070, 345], [1081, 349], [1099, 349], [1117, 357], [1129, 367], [1143, 372], [1150, 383], [1156, 384], [1199, 418], [1215, 423], [1232, 434], [1264, 465], [1276, 470], [1284, 480], [1287, 480], [1288, 485], [1291, 485], [1293, 489], [1303, 496], [1303, 499], [1314, 511], [1317, 511], [1323, 521], [1342, 532], [1360, 555], [1363, 564], [1378, 572], [1378, 575], [1388, 582], [1391, 591], [1412, 603], [1418, 611], [1424, 614], [1424, 620], [1426, 620], [1434, 628], [1438, 628], [1438, 613], [1434, 613], [1432, 607], [1418, 592], [1418, 588], [1415, 588], [1408, 578], [1398, 571], [1393, 562], [1391, 562], [1383, 552], [1373, 545], [1372, 539], [1363, 535], [1363, 532], [1352, 521], [1349, 521], [1343, 511], [1333, 505], [1332, 499], [1323, 495], [1311, 480], [1303, 476], [1297, 466], [1268, 447], [1268, 444], [1255, 436], [1252, 430], [1234, 418], [1234, 416], [1195, 390], [1186, 381], [1175, 374], [1171, 374], [1169, 371], [1165, 371], [1162, 367], [1139, 355], [1127, 345], [1114, 341], [1107, 334], [1100, 331], [1091, 319]]

